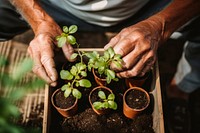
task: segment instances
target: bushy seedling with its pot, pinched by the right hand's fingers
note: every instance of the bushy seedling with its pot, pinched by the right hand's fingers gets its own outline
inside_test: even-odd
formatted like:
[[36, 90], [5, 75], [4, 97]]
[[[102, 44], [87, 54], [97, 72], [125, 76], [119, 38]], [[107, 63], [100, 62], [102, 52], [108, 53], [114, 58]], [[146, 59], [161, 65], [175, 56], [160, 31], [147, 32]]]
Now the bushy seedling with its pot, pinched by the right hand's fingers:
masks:
[[111, 64], [117, 68], [122, 67], [121, 55], [116, 54], [112, 47], [104, 51], [103, 55], [93, 51], [86, 53], [89, 58], [88, 70], [93, 72], [95, 81], [98, 85], [110, 84], [112, 80], [118, 81], [115, 72], [110, 68]]

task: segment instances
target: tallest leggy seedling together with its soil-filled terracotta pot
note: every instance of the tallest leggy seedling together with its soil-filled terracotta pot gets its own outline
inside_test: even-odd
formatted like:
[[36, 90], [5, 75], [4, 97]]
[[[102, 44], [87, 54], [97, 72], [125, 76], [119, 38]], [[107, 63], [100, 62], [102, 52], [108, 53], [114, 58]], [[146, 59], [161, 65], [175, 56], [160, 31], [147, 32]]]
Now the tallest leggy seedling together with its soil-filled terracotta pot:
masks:
[[[76, 45], [77, 49], [79, 44], [76, 39], [71, 34], [77, 31], [77, 26], [72, 25], [69, 28], [67, 26], [63, 27], [63, 33], [56, 38], [58, 41], [58, 46], [62, 47], [66, 43], [71, 45]], [[91, 82], [86, 79], [87, 77], [87, 66], [83, 62], [84, 53], [77, 50], [77, 53], [71, 55], [71, 59], [78, 58], [78, 61], [68, 67], [67, 70], [60, 71], [60, 78], [65, 80], [65, 84], [56, 90], [52, 95], [52, 104], [58, 110], [58, 112], [64, 117], [70, 117], [74, 115], [77, 111], [78, 99], [82, 97], [80, 88], [91, 87]]]

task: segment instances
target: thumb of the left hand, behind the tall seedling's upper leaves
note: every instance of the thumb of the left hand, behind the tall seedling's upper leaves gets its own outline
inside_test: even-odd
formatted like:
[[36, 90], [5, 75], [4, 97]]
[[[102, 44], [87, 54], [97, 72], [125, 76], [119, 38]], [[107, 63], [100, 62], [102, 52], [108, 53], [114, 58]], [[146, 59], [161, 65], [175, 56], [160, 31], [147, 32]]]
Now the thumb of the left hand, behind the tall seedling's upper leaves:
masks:
[[63, 45], [62, 50], [63, 50], [63, 53], [64, 53], [65, 57], [67, 58], [67, 60], [74, 61], [70, 58], [71, 55], [74, 53], [74, 49], [71, 45], [69, 45], [69, 44]]

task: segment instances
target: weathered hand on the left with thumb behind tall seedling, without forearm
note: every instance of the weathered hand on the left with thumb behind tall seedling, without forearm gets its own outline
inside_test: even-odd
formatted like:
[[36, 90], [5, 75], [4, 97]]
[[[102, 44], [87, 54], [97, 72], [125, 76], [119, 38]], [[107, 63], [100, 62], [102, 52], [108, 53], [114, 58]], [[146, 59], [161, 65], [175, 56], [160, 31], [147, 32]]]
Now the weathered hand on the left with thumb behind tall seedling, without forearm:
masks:
[[[55, 23], [41, 23], [28, 47], [28, 53], [34, 61], [33, 72], [51, 86], [55, 86], [58, 79], [54, 49], [57, 47], [55, 37], [61, 32], [60, 27]], [[70, 55], [73, 53], [71, 45], [64, 45], [62, 50], [70, 60]]]

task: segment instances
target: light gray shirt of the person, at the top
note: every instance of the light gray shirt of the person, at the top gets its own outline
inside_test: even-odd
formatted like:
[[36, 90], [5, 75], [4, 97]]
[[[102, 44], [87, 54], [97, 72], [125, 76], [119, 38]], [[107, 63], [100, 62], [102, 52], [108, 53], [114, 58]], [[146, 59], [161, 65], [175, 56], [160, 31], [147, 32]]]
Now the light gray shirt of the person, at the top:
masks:
[[112, 26], [129, 18], [149, 0], [49, 0], [91, 24]]

